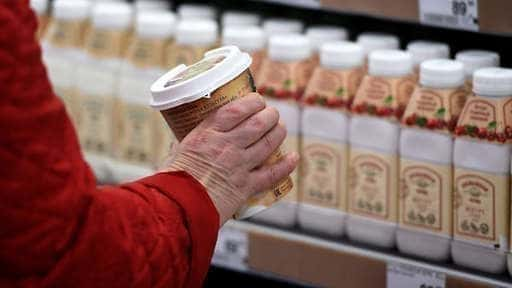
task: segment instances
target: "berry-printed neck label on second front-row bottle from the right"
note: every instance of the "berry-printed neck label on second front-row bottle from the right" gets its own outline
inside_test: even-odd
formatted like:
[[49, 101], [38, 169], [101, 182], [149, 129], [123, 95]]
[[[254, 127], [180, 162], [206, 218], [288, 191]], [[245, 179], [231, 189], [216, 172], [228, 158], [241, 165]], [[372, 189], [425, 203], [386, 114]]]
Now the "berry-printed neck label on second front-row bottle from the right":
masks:
[[464, 87], [430, 89], [416, 87], [407, 105], [402, 123], [451, 133], [466, 102]]

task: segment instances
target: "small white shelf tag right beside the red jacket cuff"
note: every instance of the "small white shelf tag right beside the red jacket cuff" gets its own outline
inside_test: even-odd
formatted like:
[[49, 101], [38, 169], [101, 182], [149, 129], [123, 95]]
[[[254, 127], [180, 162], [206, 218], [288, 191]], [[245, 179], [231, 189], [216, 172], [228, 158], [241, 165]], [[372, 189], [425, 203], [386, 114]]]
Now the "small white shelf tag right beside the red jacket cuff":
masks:
[[238, 271], [249, 270], [249, 237], [247, 232], [232, 227], [223, 227], [219, 231], [212, 263], [214, 265]]

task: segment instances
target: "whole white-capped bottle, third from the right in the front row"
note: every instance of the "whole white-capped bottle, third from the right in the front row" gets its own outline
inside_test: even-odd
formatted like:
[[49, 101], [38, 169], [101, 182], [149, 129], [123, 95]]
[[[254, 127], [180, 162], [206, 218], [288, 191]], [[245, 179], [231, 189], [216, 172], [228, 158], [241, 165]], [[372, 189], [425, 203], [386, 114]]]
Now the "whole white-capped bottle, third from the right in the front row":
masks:
[[368, 64], [352, 105], [346, 228], [354, 241], [391, 248], [398, 217], [397, 119], [415, 83], [407, 52], [376, 50]]

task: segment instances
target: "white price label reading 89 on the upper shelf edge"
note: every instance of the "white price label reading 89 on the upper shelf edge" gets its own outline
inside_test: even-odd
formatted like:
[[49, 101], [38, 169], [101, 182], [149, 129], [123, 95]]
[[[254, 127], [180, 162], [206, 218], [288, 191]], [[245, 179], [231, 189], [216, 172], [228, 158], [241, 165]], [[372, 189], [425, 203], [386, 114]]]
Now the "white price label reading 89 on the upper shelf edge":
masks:
[[419, 0], [422, 24], [478, 31], [478, 0]]

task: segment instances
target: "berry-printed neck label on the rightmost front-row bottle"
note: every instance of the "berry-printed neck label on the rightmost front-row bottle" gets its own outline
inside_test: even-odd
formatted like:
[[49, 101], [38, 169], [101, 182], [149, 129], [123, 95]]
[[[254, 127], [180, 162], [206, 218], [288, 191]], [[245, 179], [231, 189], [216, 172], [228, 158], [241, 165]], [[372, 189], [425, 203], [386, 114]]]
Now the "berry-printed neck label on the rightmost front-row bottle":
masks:
[[469, 97], [460, 114], [455, 135], [494, 143], [511, 143], [512, 96], [496, 99]]

